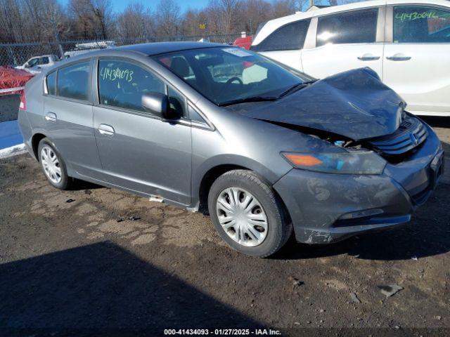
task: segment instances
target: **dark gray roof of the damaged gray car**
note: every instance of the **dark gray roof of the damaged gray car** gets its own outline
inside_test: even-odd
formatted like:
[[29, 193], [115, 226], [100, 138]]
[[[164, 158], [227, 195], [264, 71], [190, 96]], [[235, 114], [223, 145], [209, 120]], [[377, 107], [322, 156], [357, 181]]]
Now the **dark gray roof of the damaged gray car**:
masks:
[[131, 46], [122, 46], [118, 49], [126, 49], [129, 51], [137, 51], [146, 55], [158, 55], [162, 53], [172, 53], [174, 51], [186, 51], [188, 49], [200, 49], [227, 46], [225, 44], [213, 44], [211, 42], [155, 42], [152, 44], [133, 44]]

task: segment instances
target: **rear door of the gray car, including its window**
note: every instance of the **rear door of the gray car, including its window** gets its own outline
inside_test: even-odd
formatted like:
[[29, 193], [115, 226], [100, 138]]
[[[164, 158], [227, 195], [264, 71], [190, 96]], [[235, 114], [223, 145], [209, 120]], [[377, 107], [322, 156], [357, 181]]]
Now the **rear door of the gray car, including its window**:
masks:
[[82, 60], [46, 75], [44, 128], [69, 171], [101, 180], [103, 170], [92, 128], [91, 63]]

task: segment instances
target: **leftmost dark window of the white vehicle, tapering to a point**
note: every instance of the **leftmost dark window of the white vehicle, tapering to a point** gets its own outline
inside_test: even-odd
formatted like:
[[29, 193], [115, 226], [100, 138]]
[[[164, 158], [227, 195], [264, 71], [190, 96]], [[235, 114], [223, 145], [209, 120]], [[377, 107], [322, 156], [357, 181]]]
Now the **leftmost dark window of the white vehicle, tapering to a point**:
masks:
[[276, 29], [257, 46], [252, 46], [252, 51], [290, 51], [302, 49], [304, 39], [307, 36], [310, 20], [301, 20], [288, 23]]

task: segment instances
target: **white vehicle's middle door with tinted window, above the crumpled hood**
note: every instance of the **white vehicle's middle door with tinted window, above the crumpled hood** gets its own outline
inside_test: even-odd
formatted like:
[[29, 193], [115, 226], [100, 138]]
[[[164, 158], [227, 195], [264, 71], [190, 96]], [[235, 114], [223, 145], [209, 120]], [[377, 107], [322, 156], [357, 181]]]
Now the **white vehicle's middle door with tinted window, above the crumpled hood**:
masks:
[[[360, 67], [383, 76], [385, 6], [314, 18], [316, 39], [302, 50], [303, 71], [323, 78]], [[307, 38], [308, 39], [308, 38]]]

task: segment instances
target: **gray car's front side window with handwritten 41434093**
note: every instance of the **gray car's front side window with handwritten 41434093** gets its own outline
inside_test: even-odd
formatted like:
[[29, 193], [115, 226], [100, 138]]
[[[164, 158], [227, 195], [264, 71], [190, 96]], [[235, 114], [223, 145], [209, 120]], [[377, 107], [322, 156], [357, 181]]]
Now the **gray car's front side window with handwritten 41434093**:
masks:
[[100, 104], [146, 112], [141, 98], [150, 92], [165, 93], [165, 84], [139, 65], [120, 60], [98, 63]]

